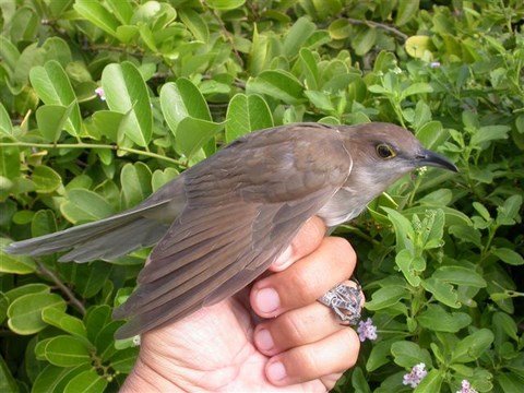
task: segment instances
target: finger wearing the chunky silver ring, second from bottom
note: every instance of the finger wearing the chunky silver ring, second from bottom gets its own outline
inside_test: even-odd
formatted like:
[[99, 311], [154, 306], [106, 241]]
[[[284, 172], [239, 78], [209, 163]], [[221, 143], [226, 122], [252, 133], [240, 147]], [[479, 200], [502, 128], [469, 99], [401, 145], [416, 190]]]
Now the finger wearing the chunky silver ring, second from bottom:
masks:
[[[357, 286], [355, 282], [344, 284]], [[364, 294], [360, 308], [364, 306]], [[254, 344], [266, 356], [273, 356], [293, 347], [318, 342], [333, 333], [347, 329], [341, 324], [333, 310], [318, 301], [285, 312], [257, 325]]]

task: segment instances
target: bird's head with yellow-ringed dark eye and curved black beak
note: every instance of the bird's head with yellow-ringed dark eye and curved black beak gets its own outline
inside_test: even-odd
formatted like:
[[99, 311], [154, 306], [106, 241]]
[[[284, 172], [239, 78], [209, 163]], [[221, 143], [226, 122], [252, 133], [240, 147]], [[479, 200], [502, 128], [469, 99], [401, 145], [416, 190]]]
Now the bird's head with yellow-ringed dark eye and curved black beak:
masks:
[[373, 198], [415, 168], [432, 166], [458, 171], [451, 160], [422, 147], [409, 131], [398, 126], [367, 123], [340, 131], [353, 158], [352, 187], [371, 190]]

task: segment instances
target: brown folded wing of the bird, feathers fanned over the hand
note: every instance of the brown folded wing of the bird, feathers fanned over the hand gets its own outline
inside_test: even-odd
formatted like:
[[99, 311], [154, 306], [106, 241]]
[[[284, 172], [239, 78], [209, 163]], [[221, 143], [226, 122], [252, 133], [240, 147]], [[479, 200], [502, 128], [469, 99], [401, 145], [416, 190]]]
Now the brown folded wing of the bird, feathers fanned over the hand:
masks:
[[[329, 158], [329, 159], [327, 159]], [[187, 205], [116, 312], [131, 336], [223, 300], [259, 276], [341, 188], [336, 130], [284, 127], [234, 142], [184, 172]]]

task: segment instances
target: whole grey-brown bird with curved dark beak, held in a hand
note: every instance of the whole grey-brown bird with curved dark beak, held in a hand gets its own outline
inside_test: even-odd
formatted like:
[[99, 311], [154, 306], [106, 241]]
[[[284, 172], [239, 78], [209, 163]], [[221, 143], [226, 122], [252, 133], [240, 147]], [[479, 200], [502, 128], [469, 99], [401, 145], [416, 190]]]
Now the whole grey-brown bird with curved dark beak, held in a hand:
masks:
[[385, 122], [290, 123], [248, 133], [138, 204], [102, 221], [10, 243], [12, 254], [68, 251], [60, 262], [111, 261], [154, 246], [138, 288], [112, 317], [131, 337], [226, 299], [260, 276], [300, 227], [358, 216], [403, 175], [451, 171], [446, 157]]

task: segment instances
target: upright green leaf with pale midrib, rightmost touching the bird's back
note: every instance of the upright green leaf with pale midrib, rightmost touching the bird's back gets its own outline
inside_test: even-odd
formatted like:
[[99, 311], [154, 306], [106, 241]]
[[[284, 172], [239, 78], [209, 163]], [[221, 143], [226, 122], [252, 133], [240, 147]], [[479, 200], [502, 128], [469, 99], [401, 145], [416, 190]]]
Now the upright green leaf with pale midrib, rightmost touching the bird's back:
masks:
[[267, 103], [259, 95], [235, 95], [226, 115], [226, 141], [231, 142], [251, 131], [273, 127]]

